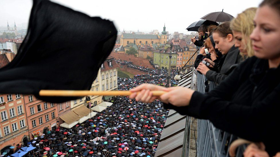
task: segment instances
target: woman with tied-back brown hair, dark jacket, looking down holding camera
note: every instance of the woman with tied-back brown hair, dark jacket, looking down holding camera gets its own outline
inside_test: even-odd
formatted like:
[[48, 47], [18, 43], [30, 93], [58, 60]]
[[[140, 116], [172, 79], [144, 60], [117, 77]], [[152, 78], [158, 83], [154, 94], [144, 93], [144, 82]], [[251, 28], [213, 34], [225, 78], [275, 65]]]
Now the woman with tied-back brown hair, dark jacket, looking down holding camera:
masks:
[[[244, 59], [239, 54], [238, 48], [234, 46], [235, 38], [230, 29], [230, 22], [224, 22], [213, 30], [213, 40], [216, 43], [215, 48], [223, 55], [219, 65], [216, 65], [218, 71], [209, 69], [209, 67], [214, 68], [215, 62], [208, 58], [199, 63], [197, 71], [205, 75], [209, 81], [219, 84]], [[206, 64], [209, 66], [207, 67]]]

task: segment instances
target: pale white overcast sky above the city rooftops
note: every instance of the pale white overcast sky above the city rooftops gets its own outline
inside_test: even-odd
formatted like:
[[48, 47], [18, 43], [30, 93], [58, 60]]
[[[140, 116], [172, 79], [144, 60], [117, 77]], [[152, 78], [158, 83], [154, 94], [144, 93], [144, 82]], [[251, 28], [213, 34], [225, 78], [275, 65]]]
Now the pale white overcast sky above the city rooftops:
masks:
[[[112, 20], [119, 30], [149, 32], [153, 29], [187, 33], [186, 27], [204, 15], [222, 11], [236, 17], [246, 8], [257, 7], [261, 0], [51, 0], [90, 16]], [[198, 3], [199, 2], [199, 3]], [[20, 27], [28, 23], [32, 0], [0, 0], [0, 26]]]

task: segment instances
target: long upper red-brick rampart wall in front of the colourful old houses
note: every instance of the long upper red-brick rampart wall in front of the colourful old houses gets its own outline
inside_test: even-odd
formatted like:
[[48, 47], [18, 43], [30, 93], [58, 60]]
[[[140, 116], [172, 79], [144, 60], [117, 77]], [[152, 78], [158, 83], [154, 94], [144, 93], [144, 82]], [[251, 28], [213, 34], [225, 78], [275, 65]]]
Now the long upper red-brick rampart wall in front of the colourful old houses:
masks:
[[112, 52], [110, 55], [113, 56], [116, 60], [121, 59], [126, 61], [132, 61], [133, 65], [154, 69], [153, 66], [150, 64], [149, 60], [145, 58], [135, 57], [134, 55], [128, 55], [125, 53], [118, 52]]

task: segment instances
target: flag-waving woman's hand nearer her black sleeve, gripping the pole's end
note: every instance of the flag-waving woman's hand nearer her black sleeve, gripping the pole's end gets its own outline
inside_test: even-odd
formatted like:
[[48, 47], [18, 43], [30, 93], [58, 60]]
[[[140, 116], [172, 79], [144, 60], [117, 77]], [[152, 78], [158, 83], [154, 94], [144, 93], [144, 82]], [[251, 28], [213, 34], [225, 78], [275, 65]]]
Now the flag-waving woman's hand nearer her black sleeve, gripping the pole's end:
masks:
[[160, 96], [160, 100], [174, 106], [188, 106], [195, 91], [180, 86], [167, 88], [167, 93]]

